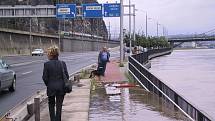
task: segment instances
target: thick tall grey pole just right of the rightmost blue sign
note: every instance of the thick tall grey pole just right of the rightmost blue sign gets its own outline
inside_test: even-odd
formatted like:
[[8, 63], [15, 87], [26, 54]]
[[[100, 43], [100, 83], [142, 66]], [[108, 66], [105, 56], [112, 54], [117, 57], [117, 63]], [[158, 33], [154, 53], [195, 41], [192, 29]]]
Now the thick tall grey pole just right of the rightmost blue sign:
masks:
[[120, 64], [123, 62], [123, 16], [124, 16], [124, 8], [123, 8], [123, 0], [120, 0]]

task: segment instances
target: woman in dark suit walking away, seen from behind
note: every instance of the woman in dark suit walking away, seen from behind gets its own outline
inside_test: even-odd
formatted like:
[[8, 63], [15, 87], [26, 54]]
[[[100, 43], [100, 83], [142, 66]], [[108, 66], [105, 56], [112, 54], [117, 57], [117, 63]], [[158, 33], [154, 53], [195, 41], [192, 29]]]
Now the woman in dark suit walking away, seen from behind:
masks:
[[44, 63], [42, 78], [47, 87], [50, 119], [51, 121], [61, 121], [62, 104], [65, 95], [62, 70], [64, 69], [67, 78], [69, 78], [69, 75], [66, 63], [58, 60], [59, 49], [57, 46], [48, 48], [47, 56], [49, 60]]

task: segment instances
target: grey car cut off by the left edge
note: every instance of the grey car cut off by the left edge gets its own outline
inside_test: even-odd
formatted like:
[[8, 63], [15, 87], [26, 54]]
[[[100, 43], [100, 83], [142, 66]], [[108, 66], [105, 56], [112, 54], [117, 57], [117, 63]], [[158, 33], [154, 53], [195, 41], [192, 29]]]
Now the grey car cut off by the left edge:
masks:
[[14, 92], [16, 89], [16, 73], [9, 69], [9, 65], [0, 59], [0, 91], [9, 89]]

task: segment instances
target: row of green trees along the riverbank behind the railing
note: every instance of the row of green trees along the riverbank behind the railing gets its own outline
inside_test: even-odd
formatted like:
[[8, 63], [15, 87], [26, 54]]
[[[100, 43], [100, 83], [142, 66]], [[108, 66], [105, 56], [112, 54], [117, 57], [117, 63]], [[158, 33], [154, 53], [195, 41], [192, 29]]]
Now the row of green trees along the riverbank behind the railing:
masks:
[[[124, 43], [129, 46], [129, 35], [125, 35]], [[132, 46], [142, 46], [143, 48], [166, 48], [170, 44], [165, 37], [145, 37], [144, 35], [136, 34], [136, 41], [132, 40]]]

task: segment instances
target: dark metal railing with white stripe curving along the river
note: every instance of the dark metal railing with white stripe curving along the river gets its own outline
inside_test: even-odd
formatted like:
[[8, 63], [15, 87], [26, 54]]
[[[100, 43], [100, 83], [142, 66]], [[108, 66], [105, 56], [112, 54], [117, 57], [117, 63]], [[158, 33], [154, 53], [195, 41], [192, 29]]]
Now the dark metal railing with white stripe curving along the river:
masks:
[[[138, 55], [129, 56], [128, 70], [130, 74], [147, 90], [162, 97], [165, 101], [171, 102], [181, 110], [190, 120], [194, 121], [211, 121], [209, 116], [201, 112], [194, 105], [186, 101], [176, 91], [171, 89], [168, 85], [164, 84], [156, 76], [149, 72], [147, 68], [143, 66], [144, 63], [150, 59], [149, 56], [153, 54], [158, 56], [158, 50], [149, 51], [148, 53], [141, 53]], [[164, 51], [161, 51], [165, 54]], [[160, 56], [162, 55], [160, 54]], [[152, 58], [151, 57], [151, 58]]]

